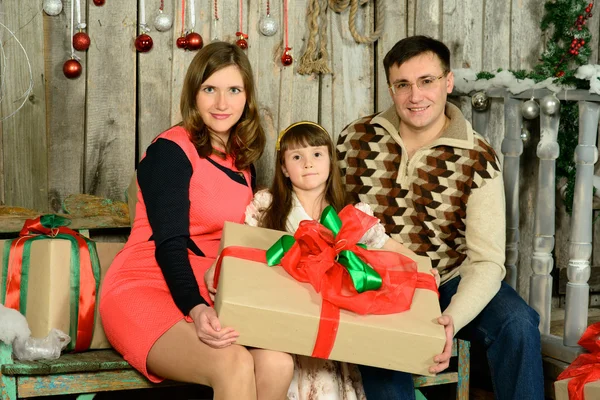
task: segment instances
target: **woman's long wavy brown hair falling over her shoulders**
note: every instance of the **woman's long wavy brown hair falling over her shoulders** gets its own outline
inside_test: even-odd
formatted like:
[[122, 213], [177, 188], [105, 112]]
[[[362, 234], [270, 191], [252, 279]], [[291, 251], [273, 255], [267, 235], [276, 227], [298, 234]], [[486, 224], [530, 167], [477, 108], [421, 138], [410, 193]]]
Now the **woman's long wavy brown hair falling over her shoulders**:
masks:
[[200, 50], [185, 75], [180, 108], [182, 125], [190, 132], [198, 154], [206, 158], [212, 153], [220, 153], [212, 147], [211, 134], [196, 107], [196, 96], [204, 81], [231, 65], [236, 66], [242, 75], [246, 106], [239, 121], [231, 128], [225, 151], [235, 156], [235, 166], [241, 171], [260, 158], [266, 142], [258, 114], [252, 67], [244, 52], [226, 42], [213, 42]]

